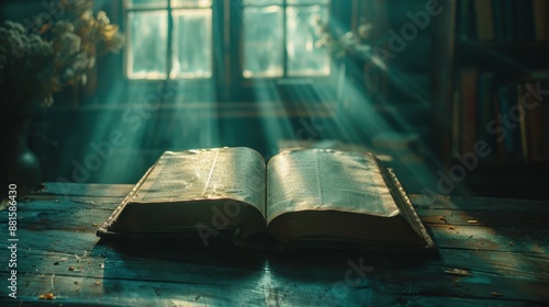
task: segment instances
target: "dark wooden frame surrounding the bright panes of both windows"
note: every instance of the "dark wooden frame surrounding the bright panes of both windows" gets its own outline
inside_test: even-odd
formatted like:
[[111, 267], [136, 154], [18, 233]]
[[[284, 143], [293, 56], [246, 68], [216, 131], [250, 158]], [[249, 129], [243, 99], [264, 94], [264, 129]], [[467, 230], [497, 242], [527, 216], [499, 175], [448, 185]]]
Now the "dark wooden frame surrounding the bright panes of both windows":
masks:
[[[128, 9], [126, 7], [127, 0], [120, 0], [120, 16], [123, 21], [123, 31], [127, 32], [128, 26], [128, 12], [131, 11], [149, 11], [149, 10], [167, 10], [167, 8], [157, 9]], [[168, 1], [168, 8], [171, 8]], [[346, 0], [340, 0], [346, 2]], [[329, 19], [337, 18], [336, 8], [339, 2], [328, 0], [327, 8]], [[255, 101], [257, 100], [253, 92], [255, 90], [262, 90], [266, 88], [276, 88], [277, 90], [288, 89], [292, 87], [311, 87], [311, 84], [327, 87], [333, 84], [335, 80], [335, 60], [329, 57], [329, 73], [322, 76], [288, 76], [288, 58], [287, 58], [287, 22], [285, 9], [292, 7], [307, 7], [311, 4], [287, 4], [283, 0], [284, 22], [283, 35], [284, 46], [282, 46], [284, 64], [282, 77], [244, 77], [244, 8], [243, 0], [212, 0], [212, 73], [210, 78], [176, 78], [170, 79], [170, 70], [167, 71], [166, 78], [163, 79], [132, 79], [128, 78], [128, 52], [122, 52], [122, 73], [127, 92], [136, 89], [155, 89], [159, 83], [169, 82], [171, 86], [177, 87], [178, 90], [184, 91], [189, 96], [197, 96], [193, 93], [199, 93], [204, 88], [213, 88], [217, 101]], [[178, 8], [179, 9], [179, 8]], [[175, 10], [171, 8], [171, 10]], [[177, 10], [177, 9], [176, 9]], [[171, 11], [168, 11], [168, 44], [171, 44]], [[127, 38], [128, 36], [126, 36]], [[223, 47], [217, 47], [216, 43], [223, 43]], [[168, 68], [171, 65], [171, 47], [168, 47]], [[197, 99], [195, 101], [200, 101]], [[169, 103], [169, 102], [168, 102]]]

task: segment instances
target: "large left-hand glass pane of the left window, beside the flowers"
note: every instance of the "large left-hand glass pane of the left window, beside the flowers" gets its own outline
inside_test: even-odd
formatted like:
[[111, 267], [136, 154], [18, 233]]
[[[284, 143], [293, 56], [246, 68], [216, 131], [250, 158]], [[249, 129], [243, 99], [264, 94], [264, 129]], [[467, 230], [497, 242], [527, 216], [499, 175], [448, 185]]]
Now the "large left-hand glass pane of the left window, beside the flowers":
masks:
[[165, 79], [167, 76], [167, 11], [130, 12], [127, 14], [130, 79]]

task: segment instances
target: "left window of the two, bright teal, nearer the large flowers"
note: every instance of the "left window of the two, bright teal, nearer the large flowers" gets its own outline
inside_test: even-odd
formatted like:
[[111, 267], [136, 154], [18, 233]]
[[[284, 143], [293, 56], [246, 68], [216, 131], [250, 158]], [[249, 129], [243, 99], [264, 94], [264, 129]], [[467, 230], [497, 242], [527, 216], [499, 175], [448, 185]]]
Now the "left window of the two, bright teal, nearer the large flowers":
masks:
[[127, 0], [128, 79], [210, 78], [212, 0]]

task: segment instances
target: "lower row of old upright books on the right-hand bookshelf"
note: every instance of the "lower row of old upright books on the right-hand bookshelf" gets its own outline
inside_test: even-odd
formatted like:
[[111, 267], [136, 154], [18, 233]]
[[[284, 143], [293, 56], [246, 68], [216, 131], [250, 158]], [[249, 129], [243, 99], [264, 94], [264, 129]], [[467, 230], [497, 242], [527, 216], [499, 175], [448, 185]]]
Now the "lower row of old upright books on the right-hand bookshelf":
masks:
[[508, 80], [477, 68], [463, 68], [457, 75], [453, 154], [488, 146], [484, 160], [549, 162], [549, 80]]

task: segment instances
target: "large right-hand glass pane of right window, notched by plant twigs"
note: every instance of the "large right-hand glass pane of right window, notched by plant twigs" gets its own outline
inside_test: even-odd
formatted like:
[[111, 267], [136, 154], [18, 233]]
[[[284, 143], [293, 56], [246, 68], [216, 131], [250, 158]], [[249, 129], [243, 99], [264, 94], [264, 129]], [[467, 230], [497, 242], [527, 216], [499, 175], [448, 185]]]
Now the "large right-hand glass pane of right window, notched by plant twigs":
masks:
[[318, 19], [325, 20], [325, 7], [289, 7], [287, 9], [287, 50], [289, 76], [317, 76], [329, 73], [329, 56], [316, 48]]

